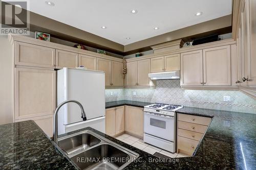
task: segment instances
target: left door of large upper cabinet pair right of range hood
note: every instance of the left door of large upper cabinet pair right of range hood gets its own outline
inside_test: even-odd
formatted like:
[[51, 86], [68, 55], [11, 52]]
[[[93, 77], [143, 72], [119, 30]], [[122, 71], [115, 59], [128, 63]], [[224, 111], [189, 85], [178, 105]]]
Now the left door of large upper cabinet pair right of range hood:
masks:
[[203, 85], [203, 52], [202, 50], [181, 53], [181, 86]]

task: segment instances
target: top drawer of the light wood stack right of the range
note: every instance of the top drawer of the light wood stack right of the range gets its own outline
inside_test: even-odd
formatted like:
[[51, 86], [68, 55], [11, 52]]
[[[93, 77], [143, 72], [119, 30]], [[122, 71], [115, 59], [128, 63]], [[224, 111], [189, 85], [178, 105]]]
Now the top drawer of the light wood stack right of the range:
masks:
[[189, 122], [189, 123], [208, 126], [210, 124], [211, 117], [195, 116], [195, 115], [179, 113], [178, 120], [183, 121], [183, 122]]

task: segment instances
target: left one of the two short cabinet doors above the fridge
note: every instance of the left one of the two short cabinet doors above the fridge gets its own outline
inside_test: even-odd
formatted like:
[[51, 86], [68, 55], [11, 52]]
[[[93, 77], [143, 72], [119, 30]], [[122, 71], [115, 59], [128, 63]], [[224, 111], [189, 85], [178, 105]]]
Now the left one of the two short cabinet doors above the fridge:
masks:
[[56, 50], [56, 68], [78, 67], [78, 54], [63, 50]]

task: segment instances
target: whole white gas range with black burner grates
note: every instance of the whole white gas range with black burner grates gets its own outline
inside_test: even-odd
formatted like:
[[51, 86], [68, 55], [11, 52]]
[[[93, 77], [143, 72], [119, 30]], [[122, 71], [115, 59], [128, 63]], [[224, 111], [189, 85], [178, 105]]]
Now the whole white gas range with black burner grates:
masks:
[[152, 104], [144, 107], [144, 142], [176, 152], [176, 113], [178, 105]]

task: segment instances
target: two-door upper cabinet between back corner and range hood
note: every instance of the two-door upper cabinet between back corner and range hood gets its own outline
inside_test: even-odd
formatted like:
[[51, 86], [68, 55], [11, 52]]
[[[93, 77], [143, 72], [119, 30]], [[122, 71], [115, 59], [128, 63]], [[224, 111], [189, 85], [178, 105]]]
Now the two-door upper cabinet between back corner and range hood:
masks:
[[153, 86], [153, 82], [148, 78], [150, 65], [150, 59], [127, 62], [126, 86]]

